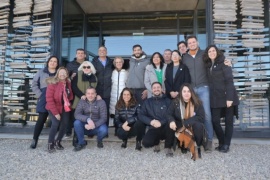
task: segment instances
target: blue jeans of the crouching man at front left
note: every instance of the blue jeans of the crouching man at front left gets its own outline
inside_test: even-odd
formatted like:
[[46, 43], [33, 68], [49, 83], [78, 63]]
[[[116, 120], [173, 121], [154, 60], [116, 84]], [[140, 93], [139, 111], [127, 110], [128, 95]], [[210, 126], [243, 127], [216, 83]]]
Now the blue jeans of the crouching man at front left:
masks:
[[84, 135], [94, 136], [97, 135], [97, 141], [101, 142], [103, 138], [108, 134], [108, 126], [106, 124], [102, 124], [101, 126], [87, 130], [84, 125], [86, 122], [82, 122], [80, 120], [75, 120], [74, 122], [74, 131], [78, 137], [78, 144], [85, 144]]

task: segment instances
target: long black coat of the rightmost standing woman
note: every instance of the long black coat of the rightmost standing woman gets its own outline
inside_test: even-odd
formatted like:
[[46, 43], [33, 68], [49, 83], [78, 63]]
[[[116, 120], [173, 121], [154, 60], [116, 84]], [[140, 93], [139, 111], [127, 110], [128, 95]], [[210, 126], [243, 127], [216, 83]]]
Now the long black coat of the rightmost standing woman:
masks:
[[226, 107], [226, 101], [233, 101], [233, 106], [239, 105], [239, 99], [233, 84], [232, 68], [224, 64], [225, 57], [216, 58], [212, 70], [211, 61], [207, 63], [207, 75], [210, 87], [211, 108]]

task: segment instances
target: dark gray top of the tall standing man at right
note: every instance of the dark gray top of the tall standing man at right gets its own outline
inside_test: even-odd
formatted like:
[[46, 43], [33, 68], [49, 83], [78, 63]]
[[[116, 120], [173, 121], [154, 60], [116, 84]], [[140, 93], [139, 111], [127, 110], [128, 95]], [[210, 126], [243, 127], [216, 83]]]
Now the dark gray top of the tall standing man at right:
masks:
[[186, 53], [183, 63], [188, 67], [193, 87], [208, 86], [207, 71], [203, 62], [203, 50], [198, 50], [195, 58]]

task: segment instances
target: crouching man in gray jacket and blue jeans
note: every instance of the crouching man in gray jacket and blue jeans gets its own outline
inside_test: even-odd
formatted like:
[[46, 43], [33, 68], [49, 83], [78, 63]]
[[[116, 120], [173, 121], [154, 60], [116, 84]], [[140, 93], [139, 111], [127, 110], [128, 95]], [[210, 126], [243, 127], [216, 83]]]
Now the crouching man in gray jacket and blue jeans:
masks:
[[104, 100], [97, 100], [95, 88], [86, 90], [86, 99], [81, 99], [76, 107], [74, 117], [74, 131], [78, 137], [78, 144], [74, 151], [80, 151], [86, 146], [84, 135], [97, 135], [97, 147], [103, 148], [102, 140], [108, 134], [107, 108]]

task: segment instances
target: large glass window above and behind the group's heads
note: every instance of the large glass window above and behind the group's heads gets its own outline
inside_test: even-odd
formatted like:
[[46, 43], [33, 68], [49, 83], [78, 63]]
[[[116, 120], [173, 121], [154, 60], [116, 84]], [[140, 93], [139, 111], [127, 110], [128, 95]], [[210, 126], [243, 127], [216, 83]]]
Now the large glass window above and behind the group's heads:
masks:
[[[103, 44], [109, 56], [130, 56], [135, 44], [140, 44], [147, 55], [163, 53], [177, 49], [178, 39], [193, 34], [193, 11], [90, 16], [88, 21], [87, 50], [97, 54], [99, 44]], [[200, 39], [205, 47], [205, 34]]]

